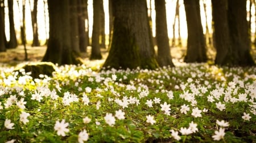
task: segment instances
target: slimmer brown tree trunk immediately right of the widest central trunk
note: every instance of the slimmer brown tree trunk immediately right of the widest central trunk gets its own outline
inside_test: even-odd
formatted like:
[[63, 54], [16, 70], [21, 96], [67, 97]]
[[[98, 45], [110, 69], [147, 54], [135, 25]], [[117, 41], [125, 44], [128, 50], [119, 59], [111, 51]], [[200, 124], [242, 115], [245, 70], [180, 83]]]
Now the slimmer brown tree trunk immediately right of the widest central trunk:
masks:
[[167, 21], [166, 21], [166, 1], [155, 0], [156, 11], [156, 42], [158, 45], [158, 64], [159, 66], [171, 66], [172, 63], [171, 51], [169, 45], [169, 38], [167, 33]]

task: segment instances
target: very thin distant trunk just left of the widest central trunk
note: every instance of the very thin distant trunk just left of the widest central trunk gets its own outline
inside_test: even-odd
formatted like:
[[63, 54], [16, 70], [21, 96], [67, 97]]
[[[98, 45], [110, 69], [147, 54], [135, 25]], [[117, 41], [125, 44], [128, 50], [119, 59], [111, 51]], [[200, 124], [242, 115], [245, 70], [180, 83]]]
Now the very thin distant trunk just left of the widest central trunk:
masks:
[[100, 5], [100, 17], [101, 17], [101, 25], [100, 25], [100, 47], [106, 49], [106, 44], [105, 44], [105, 40], [106, 40], [106, 36], [105, 36], [105, 12], [104, 12], [104, 5], [103, 5], [103, 1], [101, 1], [101, 5]]

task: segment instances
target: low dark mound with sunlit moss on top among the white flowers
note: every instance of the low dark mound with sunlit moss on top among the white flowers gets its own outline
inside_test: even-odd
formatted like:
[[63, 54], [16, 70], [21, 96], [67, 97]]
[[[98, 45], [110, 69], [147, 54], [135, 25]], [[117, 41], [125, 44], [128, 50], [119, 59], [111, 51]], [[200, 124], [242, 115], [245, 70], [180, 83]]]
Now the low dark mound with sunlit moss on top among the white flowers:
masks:
[[25, 72], [31, 72], [32, 78], [39, 78], [39, 75], [47, 75], [52, 76], [52, 72], [56, 71], [55, 64], [51, 62], [38, 62], [38, 63], [29, 63], [24, 66], [16, 68], [15, 71], [20, 71], [20, 69], [24, 69]]

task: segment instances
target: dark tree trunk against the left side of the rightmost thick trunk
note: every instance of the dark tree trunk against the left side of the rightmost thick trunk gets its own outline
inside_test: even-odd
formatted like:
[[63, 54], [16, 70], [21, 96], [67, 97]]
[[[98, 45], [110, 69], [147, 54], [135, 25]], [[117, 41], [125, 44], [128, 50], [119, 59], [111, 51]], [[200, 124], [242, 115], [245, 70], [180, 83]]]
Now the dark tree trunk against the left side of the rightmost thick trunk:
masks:
[[212, 15], [214, 21], [214, 39], [216, 47], [215, 63], [226, 65], [232, 59], [232, 47], [229, 35], [227, 9], [228, 0], [215, 1], [212, 0]]

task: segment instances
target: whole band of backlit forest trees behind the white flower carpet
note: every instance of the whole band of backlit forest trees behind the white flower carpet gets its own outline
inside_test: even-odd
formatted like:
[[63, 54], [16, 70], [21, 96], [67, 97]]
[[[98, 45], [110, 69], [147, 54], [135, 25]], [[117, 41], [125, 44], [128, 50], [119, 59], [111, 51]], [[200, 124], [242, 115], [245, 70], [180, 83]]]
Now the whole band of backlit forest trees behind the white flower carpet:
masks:
[[184, 62], [255, 64], [255, 0], [143, 2], [0, 0], [0, 51], [46, 46], [43, 61], [78, 64], [82, 53], [101, 59], [104, 50], [104, 66], [115, 68], [174, 66], [173, 49]]

